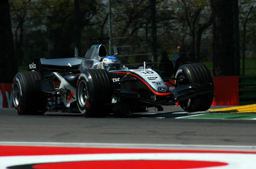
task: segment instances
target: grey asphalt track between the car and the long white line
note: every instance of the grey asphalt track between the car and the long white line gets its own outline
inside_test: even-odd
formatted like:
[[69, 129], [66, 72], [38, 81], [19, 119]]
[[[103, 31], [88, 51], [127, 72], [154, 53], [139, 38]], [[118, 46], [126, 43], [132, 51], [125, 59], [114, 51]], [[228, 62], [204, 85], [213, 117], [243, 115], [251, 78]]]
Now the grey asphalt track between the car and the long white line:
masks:
[[[219, 108], [215, 106], [214, 108]], [[152, 110], [152, 109], [151, 109]], [[17, 115], [0, 109], [0, 141], [128, 143], [128, 144], [256, 144], [255, 120], [175, 119], [180, 107], [165, 107], [125, 117], [84, 118], [81, 114], [47, 112], [43, 116]]]

